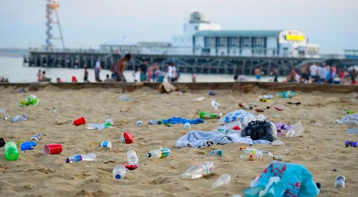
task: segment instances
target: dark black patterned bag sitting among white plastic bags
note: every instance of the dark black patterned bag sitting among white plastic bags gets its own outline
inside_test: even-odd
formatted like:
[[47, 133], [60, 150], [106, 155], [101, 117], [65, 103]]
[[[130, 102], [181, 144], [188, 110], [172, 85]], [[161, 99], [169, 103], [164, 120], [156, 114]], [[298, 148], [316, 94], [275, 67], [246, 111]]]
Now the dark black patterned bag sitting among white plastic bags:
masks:
[[277, 130], [274, 123], [268, 120], [251, 121], [241, 129], [241, 137], [250, 136], [252, 140], [277, 140]]

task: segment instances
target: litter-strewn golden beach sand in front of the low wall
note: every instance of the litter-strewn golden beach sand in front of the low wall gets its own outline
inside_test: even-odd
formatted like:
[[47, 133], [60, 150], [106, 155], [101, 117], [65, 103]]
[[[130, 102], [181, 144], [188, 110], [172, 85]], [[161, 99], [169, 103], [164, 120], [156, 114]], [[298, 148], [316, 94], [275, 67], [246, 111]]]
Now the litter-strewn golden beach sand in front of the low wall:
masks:
[[[118, 89], [62, 90], [47, 86], [39, 92], [32, 92], [41, 100], [39, 106], [19, 107], [18, 103], [26, 94], [16, 93], [14, 87], [0, 87], [0, 107], [10, 116], [26, 114], [29, 119], [11, 123], [0, 120], [0, 137], [5, 141], [28, 141], [37, 132], [42, 134], [35, 150], [19, 153], [17, 161], [5, 160], [4, 148], [0, 150], [0, 196], [232, 196], [247, 189], [250, 182], [260, 174], [270, 160], [244, 162], [240, 160], [239, 147], [244, 144], [216, 145], [210, 149], [222, 149], [223, 156], [200, 155], [195, 148], [176, 148], [175, 142], [188, 132], [183, 125], [147, 125], [148, 119], [180, 116], [197, 118], [199, 111], [229, 113], [237, 110], [238, 102], [257, 103], [267, 119], [292, 124], [301, 122], [306, 129], [300, 138], [281, 136], [279, 140], [287, 145], [254, 145], [255, 148], [269, 150], [275, 155], [283, 155], [284, 161], [305, 165], [313, 174], [314, 180], [322, 184], [319, 196], [358, 196], [358, 149], [344, 147], [348, 136], [348, 125], [335, 124], [346, 110], [358, 111], [358, 101], [351, 94], [323, 94], [320, 92], [299, 93], [290, 99], [302, 105], [285, 104], [289, 99], [274, 99], [269, 105], [283, 105], [284, 111], [273, 107], [266, 110], [267, 103], [258, 101], [262, 94], [276, 94], [256, 89], [255, 93], [240, 94], [219, 90], [217, 96], [209, 96], [208, 91], [189, 91], [185, 95], [160, 95], [158, 91], [143, 87], [128, 93], [131, 101], [119, 101], [122, 95]], [[192, 100], [205, 96], [200, 102]], [[221, 103], [216, 111], [210, 100]], [[52, 112], [56, 106], [57, 112]], [[131, 107], [128, 112], [122, 108]], [[104, 130], [86, 129], [85, 125], [74, 126], [72, 121], [84, 116], [87, 123], [104, 122], [105, 115], [116, 124]], [[256, 113], [257, 114], [257, 113]], [[279, 117], [275, 116], [279, 115]], [[2, 115], [3, 116], [3, 115]], [[136, 126], [142, 120], [143, 126]], [[203, 124], [192, 125], [192, 130], [211, 131], [217, 120], [206, 120]], [[135, 136], [135, 143], [121, 144], [120, 128]], [[112, 149], [98, 147], [108, 140]], [[63, 151], [59, 155], [43, 155], [43, 145], [60, 143]], [[171, 149], [171, 154], [162, 159], [145, 159], [145, 154], [160, 146]], [[128, 150], [137, 151], [140, 167], [128, 171], [125, 179], [114, 180], [112, 169], [126, 162]], [[201, 150], [201, 149], [200, 149]], [[75, 154], [94, 152], [97, 161], [66, 164], [65, 158]], [[101, 159], [115, 158], [116, 163], [103, 163]], [[214, 162], [215, 172], [202, 179], [181, 180], [179, 175], [191, 165], [204, 161]], [[333, 172], [333, 169], [339, 172]], [[230, 184], [215, 189], [211, 185], [222, 173], [232, 177]], [[333, 188], [338, 175], [347, 178], [345, 188]]]

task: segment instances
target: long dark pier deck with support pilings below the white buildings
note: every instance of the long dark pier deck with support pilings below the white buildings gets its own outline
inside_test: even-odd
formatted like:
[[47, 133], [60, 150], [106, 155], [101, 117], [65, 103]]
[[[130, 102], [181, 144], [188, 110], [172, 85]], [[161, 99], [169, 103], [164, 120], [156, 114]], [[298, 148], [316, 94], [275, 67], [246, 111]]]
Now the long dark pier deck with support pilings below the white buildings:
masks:
[[[164, 71], [168, 62], [173, 62], [182, 73], [206, 74], [245, 74], [252, 75], [256, 67], [269, 74], [273, 67], [280, 75], [287, 75], [292, 69], [299, 69], [306, 63], [325, 62], [338, 68], [347, 68], [358, 64], [358, 59], [346, 59], [344, 56], [324, 56], [321, 58], [300, 57], [265, 57], [265, 56], [203, 56], [203, 55], [160, 55], [160, 54], [131, 54], [132, 59], [127, 63], [126, 70], [135, 70], [143, 60], [158, 63]], [[102, 69], [110, 69], [118, 62], [121, 55], [99, 50], [39, 50], [30, 49], [29, 55], [24, 56], [24, 65], [29, 67], [47, 68], [94, 68], [97, 59]]]

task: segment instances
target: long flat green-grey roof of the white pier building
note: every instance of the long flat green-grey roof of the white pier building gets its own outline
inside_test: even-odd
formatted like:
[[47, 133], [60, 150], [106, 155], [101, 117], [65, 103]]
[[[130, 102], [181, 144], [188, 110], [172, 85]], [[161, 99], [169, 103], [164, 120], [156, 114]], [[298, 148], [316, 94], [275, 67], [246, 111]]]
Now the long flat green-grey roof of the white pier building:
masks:
[[282, 30], [205, 30], [194, 36], [228, 36], [228, 37], [264, 37], [278, 36]]

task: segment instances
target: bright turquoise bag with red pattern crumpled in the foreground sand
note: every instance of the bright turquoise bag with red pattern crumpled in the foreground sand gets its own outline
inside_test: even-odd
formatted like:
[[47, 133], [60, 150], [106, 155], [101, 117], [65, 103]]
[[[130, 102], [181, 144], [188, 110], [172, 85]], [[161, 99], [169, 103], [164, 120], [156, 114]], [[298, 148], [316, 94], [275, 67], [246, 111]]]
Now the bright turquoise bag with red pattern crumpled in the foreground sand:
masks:
[[272, 162], [257, 183], [243, 191], [245, 197], [315, 197], [320, 190], [312, 174], [300, 164]]

